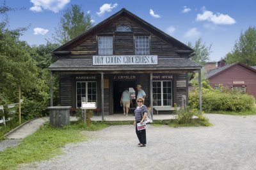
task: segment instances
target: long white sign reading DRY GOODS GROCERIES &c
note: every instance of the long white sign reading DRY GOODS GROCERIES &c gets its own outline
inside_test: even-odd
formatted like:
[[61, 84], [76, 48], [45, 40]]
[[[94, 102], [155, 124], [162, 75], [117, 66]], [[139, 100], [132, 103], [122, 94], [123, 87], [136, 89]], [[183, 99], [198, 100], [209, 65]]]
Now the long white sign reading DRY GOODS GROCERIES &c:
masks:
[[156, 55], [93, 56], [93, 65], [157, 65]]

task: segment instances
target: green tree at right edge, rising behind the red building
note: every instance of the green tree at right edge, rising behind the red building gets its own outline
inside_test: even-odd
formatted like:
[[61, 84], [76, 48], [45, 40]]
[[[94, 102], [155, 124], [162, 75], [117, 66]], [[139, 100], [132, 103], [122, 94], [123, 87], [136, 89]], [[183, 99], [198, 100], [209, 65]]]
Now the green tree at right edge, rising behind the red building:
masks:
[[239, 61], [248, 66], [256, 65], [255, 27], [249, 27], [244, 33], [241, 33], [239, 40], [234, 45], [234, 49], [225, 56], [225, 60], [227, 63]]

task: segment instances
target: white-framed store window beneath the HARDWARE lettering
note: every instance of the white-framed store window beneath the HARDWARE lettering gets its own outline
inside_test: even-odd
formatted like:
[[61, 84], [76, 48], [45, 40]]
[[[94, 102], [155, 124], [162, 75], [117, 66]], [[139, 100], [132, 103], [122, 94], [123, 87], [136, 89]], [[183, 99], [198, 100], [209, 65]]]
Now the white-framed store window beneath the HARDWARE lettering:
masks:
[[88, 102], [97, 102], [97, 82], [76, 82], [76, 107], [81, 107], [82, 97]]

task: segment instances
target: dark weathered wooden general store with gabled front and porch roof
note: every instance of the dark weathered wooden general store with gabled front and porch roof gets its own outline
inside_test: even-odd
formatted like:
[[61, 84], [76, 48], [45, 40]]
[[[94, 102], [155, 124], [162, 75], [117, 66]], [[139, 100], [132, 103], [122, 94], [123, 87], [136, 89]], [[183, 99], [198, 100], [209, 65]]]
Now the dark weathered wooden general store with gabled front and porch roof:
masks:
[[[202, 66], [191, 61], [193, 49], [124, 8], [52, 54], [49, 69], [60, 77], [60, 105], [81, 107], [81, 97], [96, 102], [102, 115], [122, 110], [120, 97], [136, 85], [145, 104], [173, 107], [188, 98], [188, 73]], [[52, 102], [51, 102], [52, 105]]]

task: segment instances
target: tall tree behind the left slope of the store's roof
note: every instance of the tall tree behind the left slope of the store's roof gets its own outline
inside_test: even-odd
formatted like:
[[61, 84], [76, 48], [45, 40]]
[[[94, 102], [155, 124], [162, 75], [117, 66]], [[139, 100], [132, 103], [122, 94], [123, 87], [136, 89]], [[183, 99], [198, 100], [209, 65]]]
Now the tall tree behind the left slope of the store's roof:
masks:
[[52, 38], [55, 42], [64, 44], [92, 27], [90, 14], [84, 15], [81, 6], [74, 4], [63, 13], [59, 26]]

